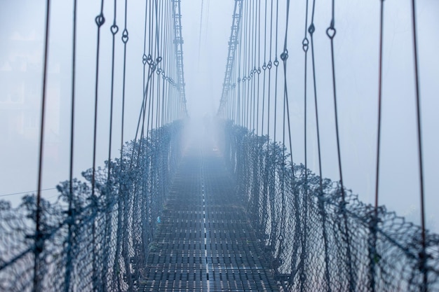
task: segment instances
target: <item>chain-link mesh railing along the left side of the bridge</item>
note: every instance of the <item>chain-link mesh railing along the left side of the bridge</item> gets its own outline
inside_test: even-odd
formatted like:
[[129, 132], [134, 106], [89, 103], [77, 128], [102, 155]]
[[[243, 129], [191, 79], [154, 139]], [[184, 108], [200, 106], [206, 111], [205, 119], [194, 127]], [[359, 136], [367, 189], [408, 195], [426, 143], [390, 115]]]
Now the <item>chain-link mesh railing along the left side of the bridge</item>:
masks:
[[[170, 177], [180, 158], [181, 122], [126, 143], [122, 159], [58, 185], [57, 202], [0, 201], [0, 291], [136, 291]], [[38, 250], [37, 250], [38, 249]], [[37, 258], [35, 257], [35, 255]]]

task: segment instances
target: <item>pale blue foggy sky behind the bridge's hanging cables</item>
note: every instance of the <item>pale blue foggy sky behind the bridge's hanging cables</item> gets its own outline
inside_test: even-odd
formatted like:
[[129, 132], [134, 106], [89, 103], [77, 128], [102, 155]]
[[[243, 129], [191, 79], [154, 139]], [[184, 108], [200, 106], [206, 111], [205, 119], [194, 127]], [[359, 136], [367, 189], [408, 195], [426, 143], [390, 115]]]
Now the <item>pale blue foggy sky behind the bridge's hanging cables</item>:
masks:
[[[274, 1], [276, 2], [276, 1]], [[311, 1], [310, 1], [311, 2]], [[264, 1], [262, 1], [264, 3]], [[280, 3], [279, 34], [285, 32], [285, 1]], [[303, 80], [305, 1], [290, 1], [288, 28], [288, 90], [291, 105], [293, 158], [304, 162]], [[123, 4], [117, 1], [116, 83], [113, 156], [120, 145], [122, 81], [121, 32]], [[189, 116], [214, 116], [221, 97], [233, 0], [182, 0], [184, 73]], [[377, 128], [380, 1], [336, 0], [335, 59], [344, 181], [360, 200], [372, 202]], [[412, 56], [411, 11], [408, 0], [386, 0], [384, 15], [384, 83], [380, 203], [419, 222], [419, 180]], [[105, 1], [101, 32], [100, 95], [97, 165], [107, 159], [109, 82], [114, 1]], [[43, 165], [43, 188], [68, 178], [69, 107], [72, 62], [72, 1], [52, 1], [48, 108]], [[100, 1], [79, 1], [76, 76], [76, 176], [91, 167], [95, 86], [95, 16]], [[21, 193], [36, 189], [41, 106], [41, 73], [45, 1], [0, 0], [0, 198], [20, 202]], [[419, 69], [428, 227], [439, 231], [439, 2], [418, 0]], [[329, 1], [316, 0], [316, 78], [320, 111], [323, 176], [338, 178], [335, 142]], [[200, 32], [201, 24], [201, 32]], [[128, 60], [126, 140], [134, 138], [142, 102], [144, 1], [128, 1]], [[201, 36], [201, 38], [200, 38]], [[201, 41], [200, 41], [201, 40]], [[283, 37], [279, 38], [279, 51]], [[274, 55], [274, 53], [273, 53]], [[269, 60], [269, 57], [266, 58]], [[273, 56], [271, 57], [273, 60]], [[309, 57], [309, 71], [311, 61]], [[262, 64], [261, 64], [262, 65]], [[279, 67], [281, 71], [281, 67]], [[317, 172], [312, 79], [309, 76], [309, 167]], [[282, 95], [280, 95], [282, 96]], [[281, 105], [279, 103], [278, 105]], [[281, 106], [278, 107], [281, 120]], [[281, 133], [278, 133], [281, 137]], [[56, 197], [54, 190], [43, 192]]]

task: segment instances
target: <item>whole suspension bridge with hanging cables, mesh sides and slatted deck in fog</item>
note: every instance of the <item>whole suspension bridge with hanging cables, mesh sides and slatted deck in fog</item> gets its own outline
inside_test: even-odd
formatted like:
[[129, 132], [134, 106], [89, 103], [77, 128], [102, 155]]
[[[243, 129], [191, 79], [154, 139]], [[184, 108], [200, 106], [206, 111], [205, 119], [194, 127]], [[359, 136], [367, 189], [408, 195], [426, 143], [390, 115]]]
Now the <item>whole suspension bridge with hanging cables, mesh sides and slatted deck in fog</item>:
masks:
[[[306, 15], [300, 24], [291, 16], [295, 1], [232, 1], [217, 115], [196, 123], [187, 108], [191, 97], [185, 90], [182, 37], [182, 6], [191, 0], [100, 0], [94, 29], [87, 32], [96, 38], [94, 49], [86, 55], [78, 45], [83, 3], [73, 0], [68, 34], [72, 90], [62, 96], [70, 109], [69, 177], [56, 186], [56, 200], [47, 200], [42, 169], [50, 113], [50, 19], [57, 15], [50, 2], [45, 6], [38, 187], [16, 207], [0, 201], [0, 291], [439, 291], [439, 235], [427, 230], [424, 212], [416, 1], [410, 6], [410, 62], [420, 225], [380, 204], [384, 1], [376, 1], [374, 204], [358, 200], [343, 181], [337, 85], [351, 81], [337, 78], [337, 0], [330, 1], [325, 29], [315, 25], [319, 4], [314, 0], [299, 6]], [[209, 2], [202, 1], [201, 27]], [[140, 19], [132, 22], [134, 15]], [[297, 88], [288, 79], [288, 70], [294, 69], [289, 50], [293, 25], [304, 32], [299, 42], [303, 109], [292, 108]], [[130, 33], [139, 26], [141, 34]], [[329, 50], [339, 172], [332, 180], [325, 179], [320, 157], [316, 34], [327, 38]], [[105, 35], [109, 41], [102, 41]], [[137, 48], [142, 54], [135, 59], [142, 70], [136, 72], [130, 69], [133, 38], [142, 40]], [[198, 39], [201, 48], [201, 31]], [[81, 60], [86, 60], [87, 71], [81, 71]], [[76, 105], [81, 74], [93, 76], [87, 95], [93, 99], [94, 115], [93, 159], [79, 179], [74, 177], [74, 142], [83, 114]], [[127, 76], [133, 75], [141, 76], [135, 87], [142, 88], [135, 113], [126, 109], [127, 100], [133, 99], [132, 91], [127, 94], [133, 86]], [[102, 100], [109, 104], [105, 149], [98, 141]], [[295, 116], [298, 111], [302, 113]], [[298, 118], [304, 123], [301, 138], [292, 131]], [[127, 137], [126, 124], [132, 120], [135, 135]], [[307, 135], [316, 135], [317, 173], [310, 170]], [[304, 161], [296, 159], [294, 139], [304, 144]], [[104, 166], [97, 160], [99, 153], [107, 157]]]

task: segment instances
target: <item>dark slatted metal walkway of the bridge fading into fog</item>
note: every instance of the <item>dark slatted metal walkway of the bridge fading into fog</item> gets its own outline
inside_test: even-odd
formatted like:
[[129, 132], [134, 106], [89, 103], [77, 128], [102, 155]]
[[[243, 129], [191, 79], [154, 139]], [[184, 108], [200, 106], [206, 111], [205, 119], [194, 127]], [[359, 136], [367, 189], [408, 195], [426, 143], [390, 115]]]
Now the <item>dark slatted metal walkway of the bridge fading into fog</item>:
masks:
[[159, 225], [140, 291], [278, 291], [216, 148], [184, 153]]

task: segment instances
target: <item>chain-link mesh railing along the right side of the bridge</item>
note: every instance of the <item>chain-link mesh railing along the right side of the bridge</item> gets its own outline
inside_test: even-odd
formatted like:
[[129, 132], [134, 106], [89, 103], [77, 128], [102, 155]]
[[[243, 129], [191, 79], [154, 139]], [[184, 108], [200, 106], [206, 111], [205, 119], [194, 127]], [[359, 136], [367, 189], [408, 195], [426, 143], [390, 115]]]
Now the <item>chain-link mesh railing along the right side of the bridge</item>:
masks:
[[236, 174], [267, 265], [285, 291], [439, 291], [439, 235], [339, 183], [291, 165], [281, 144], [224, 123]]

